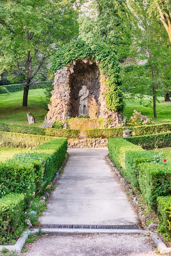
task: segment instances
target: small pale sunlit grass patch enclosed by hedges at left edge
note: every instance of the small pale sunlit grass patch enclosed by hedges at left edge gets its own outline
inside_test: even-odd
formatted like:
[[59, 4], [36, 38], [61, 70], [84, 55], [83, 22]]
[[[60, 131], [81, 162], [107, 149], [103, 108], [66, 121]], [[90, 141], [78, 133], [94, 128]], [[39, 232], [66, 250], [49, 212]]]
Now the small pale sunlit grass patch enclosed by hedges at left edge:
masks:
[[29, 152], [30, 148], [9, 148], [0, 147], [0, 162], [12, 158], [15, 154]]

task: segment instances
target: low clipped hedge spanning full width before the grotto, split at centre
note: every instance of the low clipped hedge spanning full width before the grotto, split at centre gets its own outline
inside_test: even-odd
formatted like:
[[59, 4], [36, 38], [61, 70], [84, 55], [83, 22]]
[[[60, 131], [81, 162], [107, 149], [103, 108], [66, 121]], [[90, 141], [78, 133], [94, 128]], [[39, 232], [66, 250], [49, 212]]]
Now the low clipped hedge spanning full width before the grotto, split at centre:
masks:
[[[165, 131], [171, 131], [171, 124], [144, 125], [136, 127], [116, 127], [107, 129], [86, 129], [83, 130], [83, 133], [87, 138], [122, 137], [123, 131], [127, 128], [132, 129], [133, 134], [139, 136], [144, 134], [164, 133]], [[76, 129], [41, 128], [37, 126], [15, 125], [3, 122], [0, 122], [0, 131], [17, 132], [23, 134], [38, 134], [65, 138], [78, 138], [80, 134], [80, 130]]]

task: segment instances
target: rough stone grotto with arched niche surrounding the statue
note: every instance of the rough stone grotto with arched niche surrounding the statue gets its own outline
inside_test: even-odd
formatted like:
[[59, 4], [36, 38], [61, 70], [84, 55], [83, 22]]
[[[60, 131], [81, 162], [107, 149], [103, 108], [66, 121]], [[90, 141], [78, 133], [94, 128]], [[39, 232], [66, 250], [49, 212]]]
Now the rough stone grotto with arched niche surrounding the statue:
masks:
[[98, 62], [92, 62], [90, 58], [86, 58], [77, 62], [72, 61], [55, 73], [51, 104], [48, 105], [48, 124], [60, 119], [67, 128], [67, 117], [78, 116], [78, 93], [82, 86], [86, 85], [90, 93], [90, 117], [104, 119], [104, 127], [125, 126], [126, 118], [122, 118], [121, 113], [113, 112], [106, 108], [106, 77], [101, 74], [99, 81], [101, 70], [98, 64]]

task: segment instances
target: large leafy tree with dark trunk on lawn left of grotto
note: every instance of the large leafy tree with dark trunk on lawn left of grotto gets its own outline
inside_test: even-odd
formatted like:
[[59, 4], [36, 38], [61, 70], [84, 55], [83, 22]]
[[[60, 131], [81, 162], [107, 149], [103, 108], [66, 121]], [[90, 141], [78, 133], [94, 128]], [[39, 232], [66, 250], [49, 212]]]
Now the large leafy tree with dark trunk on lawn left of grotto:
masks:
[[0, 73], [20, 78], [24, 107], [29, 85], [46, 76], [50, 56], [78, 34], [74, 2], [0, 0]]

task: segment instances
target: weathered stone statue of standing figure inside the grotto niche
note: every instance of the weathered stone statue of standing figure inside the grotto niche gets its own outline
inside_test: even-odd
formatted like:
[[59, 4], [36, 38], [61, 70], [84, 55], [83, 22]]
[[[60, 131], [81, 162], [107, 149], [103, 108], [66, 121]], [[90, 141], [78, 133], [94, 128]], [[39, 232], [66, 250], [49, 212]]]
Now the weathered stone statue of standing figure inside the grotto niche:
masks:
[[87, 90], [87, 87], [83, 85], [82, 89], [79, 91], [79, 97], [81, 96], [80, 107], [79, 107], [80, 116], [82, 115], [88, 116], [88, 95], [89, 95], [89, 90]]

